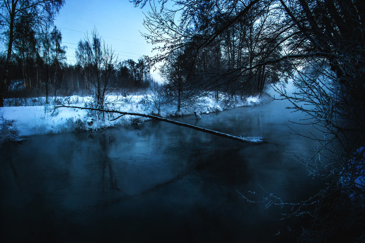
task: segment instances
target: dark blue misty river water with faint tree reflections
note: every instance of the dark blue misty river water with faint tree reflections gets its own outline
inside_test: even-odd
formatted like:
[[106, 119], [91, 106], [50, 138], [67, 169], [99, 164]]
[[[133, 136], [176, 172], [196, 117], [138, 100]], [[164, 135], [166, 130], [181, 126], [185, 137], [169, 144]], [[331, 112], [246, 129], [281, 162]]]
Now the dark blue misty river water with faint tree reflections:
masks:
[[[306, 222], [250, 204], [258, 184], [284, 201], [320, 182], [292, 155], [300, 115], [274, 101], [180, 121], [269, 143], [242, 144], [150, 121], [94, 133], [29, 137], [0, 148], [1, 242], [290, 242]], [[296, 129], [297, 125], [291, 125]]]

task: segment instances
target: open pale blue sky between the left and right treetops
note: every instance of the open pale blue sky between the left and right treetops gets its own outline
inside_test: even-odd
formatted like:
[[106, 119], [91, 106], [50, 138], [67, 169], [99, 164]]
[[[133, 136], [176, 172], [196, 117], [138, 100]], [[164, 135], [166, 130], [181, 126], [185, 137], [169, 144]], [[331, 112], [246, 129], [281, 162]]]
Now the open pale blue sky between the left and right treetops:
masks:
[[[146, 32], [143, 12], [148, 10], [147, 5], [143, 10], [135, 8], [128, 0], [66, 0], [55, 25], [61, 30], [63, 44], [68, 47], [68, 63], [75, 63], [77, 43], [94, 27], [121, 60], [137, 61], [142, 55], [152, 55], [153, 46], [139, 32]], [[151, 75], [158, 79], [157, 72]]]

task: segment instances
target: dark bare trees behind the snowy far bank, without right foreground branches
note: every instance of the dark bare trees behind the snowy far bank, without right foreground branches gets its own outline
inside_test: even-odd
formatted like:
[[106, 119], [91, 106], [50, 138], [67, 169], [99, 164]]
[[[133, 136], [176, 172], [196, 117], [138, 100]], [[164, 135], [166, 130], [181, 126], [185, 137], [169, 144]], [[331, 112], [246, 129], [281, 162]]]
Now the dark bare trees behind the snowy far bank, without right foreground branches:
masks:
[[[3, 73], [1, 102], [4, 98], [46, 96], [48, 103], [49, 97], [56, 100], [57, 96], [93, 94], [98, 89], [107, 94], [123, 93], [123, 90], [145, 89], [154, 83], [149, 73], [155, 60], [148, 56], [140, 57], [138, 62], [121, 60], [99, 36], [96, 28], [78, 43], [75, 53], [77, 63], [67, 64], [67, 46], [62, 43], [61, 31], [54, 26], [52, 19], [64, 2], [47, 1], [49, 5], [46, 5], [43, 1], [34, 1], [35, 5], [39, 5], [34, 9], [32, 5], [25, 4], [22, 1], [12, 4], [5, 1], [2, 7], [3, 38], [7, 48], [0, 56]], [[14, 16], [9, 10], [15, 11]], [[195, 31], [211, 28], [209, 19], [194, 21]], [[164, 82], [159, 88], [180, 110], [180, 107], [187, 107], [208, 93], [214, 93], [216, 100], [223, 97], [233, 99], [236, 95], [243, 99], [249, 94], [262, 93], [265, 85], [285, 80], [283, 74], [288, 65], [280, 63], [268, 64], [244, 75], [231, 71], [246, 62], [252, 66], [265, 58], [280, 56], [280, 46], [269, 50], [268, 46], [258, 45], [264, 35], [262, 30], [270, 27], [270, 21], [270, 17], [266, 16], [265, 19], [256, 19], [251, 26], [241, 24], [238, 29], [226, 30], [222, 33], [223, 39], [214, 41], [199, 52], [196, 46], [201, 45], [201, 40], [181, 46], [165, 59], [160, 69]], [[153, 23], [147, 26], [152, 27]], [[249, 52], [244, 51], [246, 48]], [[263, 48], [268, 51], [259, 53]], [[98, 92], [99, 96], [103, 93]]]

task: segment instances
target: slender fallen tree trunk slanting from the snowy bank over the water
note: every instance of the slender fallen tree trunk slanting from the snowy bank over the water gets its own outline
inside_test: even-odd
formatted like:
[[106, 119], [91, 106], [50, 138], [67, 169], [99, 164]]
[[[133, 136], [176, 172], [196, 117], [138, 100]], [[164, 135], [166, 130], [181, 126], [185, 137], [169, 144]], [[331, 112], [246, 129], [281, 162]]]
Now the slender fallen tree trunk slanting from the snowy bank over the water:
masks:
[[206, 128], [201, 128], [199, 126], [193, 126], [193, 125], [190, 125], [190, 124], [187, 124], [187, 123], [170, 120], [170, 119], [166, 119], [166, 118], [163, 118], [163, 117], [157, 117], [155, 115], [147, 115], [147, 114], [133, 113], [133, 112], [124, 112], [124, 111], [117, 111], [117, 110], [104, 110], [104, 109], [96, 109], [96, 108], [88, 108], [88, 107], [78, 107], [78, 106], [55, 106], [54, 109], [62, 108], [62, 107], [85, 109], [85, 110], [97, 110], [97, 111], [103, 111], [103, 112], [109, 112], [109, 113], [118, 113], [118, 114], [121, 114], [119, 117], [122, 117], [123, 115], [137, 115], [137, 116], [140, 116], [140, 117], [146, 117], [146, 118], [151, 118], [151, 119], [155, 119], [155, 120], [159, 120], [159, 121], [172, 123], [172, 124], [175, 124], [175, 125], [178, 125], [178, 126], [185, 126], [187, 128], [195, 129], [195, 130], [205, 132], [205, 133], [214, 134], [214, 135], [220, 136], [220, 137], [229, 138], [229, 139], [241, 142], [241, 143], [253, 143], [253, 144], [266, 143], [266, 141], [262, 137], [241, 137], [241, 136], [236, 137], [236, 136], [233, 136], [233, 135], [230, 135], [230, 134], [221, 133], [221, 132], [217, 132], [217, 131], [206, 129]]

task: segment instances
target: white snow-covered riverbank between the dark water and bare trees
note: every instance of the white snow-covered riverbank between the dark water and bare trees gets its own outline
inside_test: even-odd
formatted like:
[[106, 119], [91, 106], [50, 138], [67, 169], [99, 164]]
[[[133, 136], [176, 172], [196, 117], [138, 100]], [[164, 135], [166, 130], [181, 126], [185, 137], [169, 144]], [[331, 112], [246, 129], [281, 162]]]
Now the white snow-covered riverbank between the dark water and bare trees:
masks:
[[[66, 106], [87, 107], [91, 102], [91, 97], [75, 95], [66, 98], [58, 97], [57, 100], [58, 103], [61, 101]], [[142, 114], [157, 113], [150, 95], [111, 95], [108, 96], [108, 100], [111, 101], [111, 104], [108, 105], [109, 109]], [[264, 100], [260, 96], [250, 96], [243, 101], [231, 103], [227, 107], [227, 105], [224, 106], [211, 97], [204, 97], [193, 107], [181, 109], [179, 114], [191, 115], [194, 114], [194, 111], [197, 113], [207, 113], [208, 111], [222, 111], [223, 109], [237, 106], [254, 106], [259, 105]], [[4, 103], [9, 102], [5, 100]], [[30, 102], [27, 103], [29, 104]], [[38, 103], [41, 102], [38, 101]], [[37, 101], [33, 100], [32, 105], [37, 105]], [[176, 115], [175, 106], [165, 105], [161, 107], [161, 116], [168, 117], [173, 115]], [[148, 119], [124, 115], [112, 121], [116, 117], [118, 117], [117, 114], [105, 114], [105, 117], [101, 118], [95, 111], [65, 107], [54, 109], [53, 105], [0, 107], [0, 144], [7, 140], [14, 140], [16, 137], [126, 126], [133, 123], [141, 123]]]

